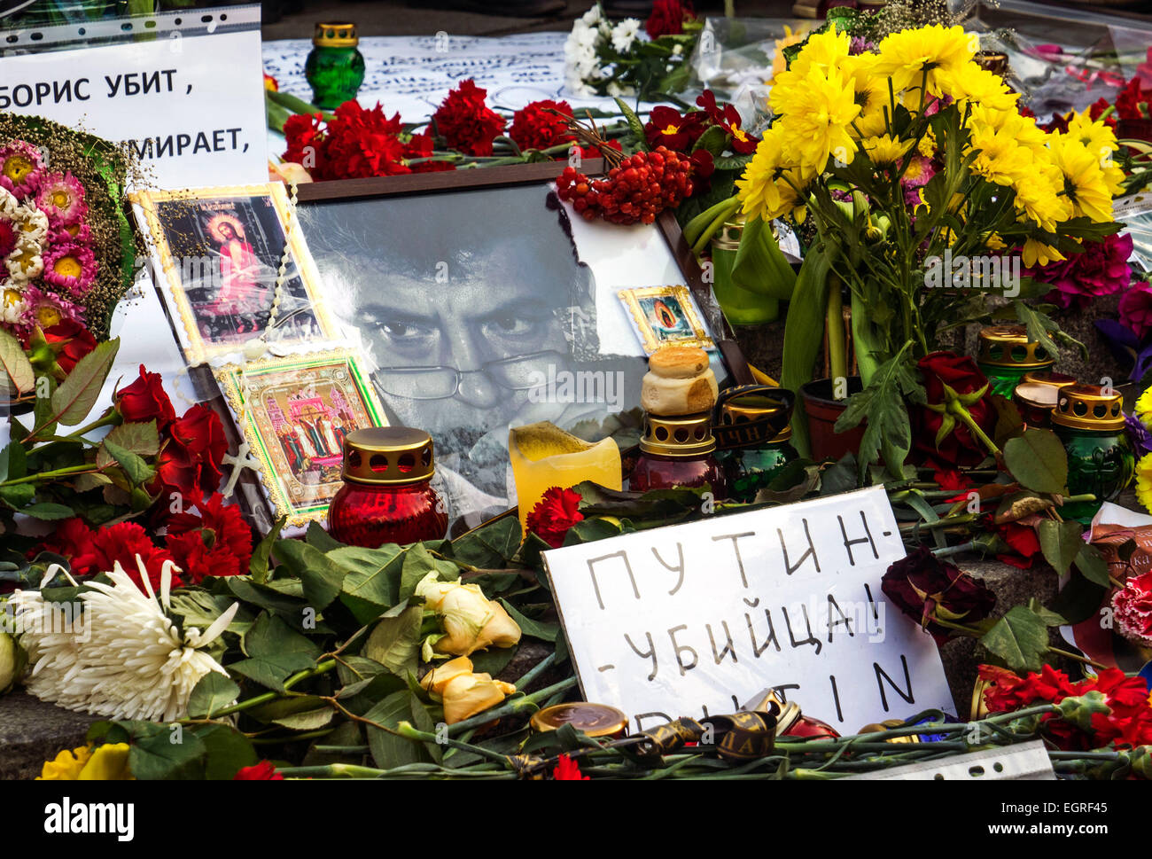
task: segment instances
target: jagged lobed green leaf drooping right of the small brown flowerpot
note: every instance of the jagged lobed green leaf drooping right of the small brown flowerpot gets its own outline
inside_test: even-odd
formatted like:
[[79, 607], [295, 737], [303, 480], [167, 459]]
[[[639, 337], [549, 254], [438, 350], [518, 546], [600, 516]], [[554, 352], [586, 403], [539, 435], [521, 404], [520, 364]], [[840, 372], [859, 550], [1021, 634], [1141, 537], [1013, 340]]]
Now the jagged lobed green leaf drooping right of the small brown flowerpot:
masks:
[[925, 401], [924, 386], [910, 356], [911, 346], [909, 340], [895, 356], [880, 364], [867, 387], [848, 399], [843, 414], [836, 421], [836, 432], [867, 421], [857, 453], [862, 483], [867, 466], [879, 458], [881, 450], [888, 470], [896, 476], [903, 473], [904, 459], [912, 446], [908, 404]]

